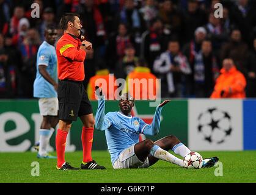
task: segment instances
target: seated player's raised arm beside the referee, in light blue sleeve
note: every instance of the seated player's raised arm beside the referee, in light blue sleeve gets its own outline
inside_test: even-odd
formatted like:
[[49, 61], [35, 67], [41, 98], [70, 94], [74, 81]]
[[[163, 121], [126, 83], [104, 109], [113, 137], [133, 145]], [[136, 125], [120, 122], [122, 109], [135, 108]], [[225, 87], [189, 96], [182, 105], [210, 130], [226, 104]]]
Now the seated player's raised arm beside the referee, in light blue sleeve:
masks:
[[111, 125], [112, 122], [105, 118], [105, 98], [102, 94], [102, 90], [97, 86], [95, 87], [95, 93], [98, 96], [98, 108], [95, 116], [95, 128], [98, 130], [106, 130]]

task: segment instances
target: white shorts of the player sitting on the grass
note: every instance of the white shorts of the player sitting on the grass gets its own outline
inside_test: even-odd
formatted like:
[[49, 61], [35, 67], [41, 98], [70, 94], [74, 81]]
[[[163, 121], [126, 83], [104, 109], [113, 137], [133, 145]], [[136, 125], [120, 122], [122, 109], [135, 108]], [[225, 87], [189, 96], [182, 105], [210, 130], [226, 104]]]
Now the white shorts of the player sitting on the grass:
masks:
[[134, 146], [132, 146], [124, 149], [117, 160], [115, 160], [113, 164], [114, 169], [128, 169], [128, 168], [148, 168], [149, 166], [149, 160], [148, 158], [142, 162], [137, 158], [135, 152], [134, 152]]

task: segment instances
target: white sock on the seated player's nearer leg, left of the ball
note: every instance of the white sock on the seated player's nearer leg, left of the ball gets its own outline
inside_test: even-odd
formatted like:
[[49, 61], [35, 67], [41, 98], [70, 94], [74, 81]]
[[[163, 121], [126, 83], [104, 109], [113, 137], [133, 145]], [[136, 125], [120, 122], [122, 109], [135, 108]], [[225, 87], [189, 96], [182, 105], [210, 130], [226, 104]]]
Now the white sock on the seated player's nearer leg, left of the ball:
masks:
[[174, 163], [175, 165], [183, 167], [183, 160], [180, 158], [175, 157], [174, 155], [170, 154], [169, 152], [161, 149], [161, 147], [154, 145], [150, 150], [150, 154], [153, 157], [159, 158], [164, 161], [168, 161], [170, 163]]

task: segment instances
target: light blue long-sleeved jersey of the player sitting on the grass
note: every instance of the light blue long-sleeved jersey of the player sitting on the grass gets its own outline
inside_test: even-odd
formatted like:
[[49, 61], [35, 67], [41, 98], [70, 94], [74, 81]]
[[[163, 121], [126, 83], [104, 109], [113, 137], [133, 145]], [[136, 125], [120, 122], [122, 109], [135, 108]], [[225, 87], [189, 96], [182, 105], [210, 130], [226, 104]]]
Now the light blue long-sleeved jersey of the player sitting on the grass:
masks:
[[126, 116], [121, 112], [109, 112], [104, 115], [104, 103], [103, 99], [99, 100], [95, 127], [105, 130], [112, 164], [124, 149], [139, 142], [139, 133], [156, 135], [159, 132], [162, 107], [156, 108], [152, 124], [146, 124], [141, 118]]

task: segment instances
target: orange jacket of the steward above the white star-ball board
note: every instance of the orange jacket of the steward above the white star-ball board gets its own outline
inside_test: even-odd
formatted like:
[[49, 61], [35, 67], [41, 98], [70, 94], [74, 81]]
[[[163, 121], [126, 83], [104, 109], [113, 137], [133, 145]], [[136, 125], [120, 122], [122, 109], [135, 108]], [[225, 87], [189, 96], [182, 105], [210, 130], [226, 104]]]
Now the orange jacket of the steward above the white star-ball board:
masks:
[[216, 80], [211, 98], [245, 98], [246, 79], [235, 66], [229, 71], [221, 69], [221, 75]]

